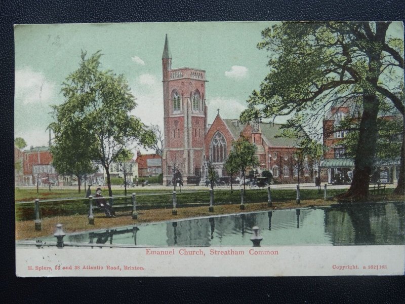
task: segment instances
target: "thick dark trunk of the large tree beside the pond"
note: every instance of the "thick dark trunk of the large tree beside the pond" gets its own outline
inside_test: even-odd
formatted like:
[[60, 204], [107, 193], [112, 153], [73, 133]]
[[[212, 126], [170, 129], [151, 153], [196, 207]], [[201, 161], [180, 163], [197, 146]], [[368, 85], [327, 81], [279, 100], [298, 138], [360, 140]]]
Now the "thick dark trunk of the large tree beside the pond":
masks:
[[375, 94], [363, 96], [363, 115], [354, 159], [353, 180], [348, 196], [356, 201], [367, 200], [370, 176], [374, 167], [377, 142], [378, 100]]

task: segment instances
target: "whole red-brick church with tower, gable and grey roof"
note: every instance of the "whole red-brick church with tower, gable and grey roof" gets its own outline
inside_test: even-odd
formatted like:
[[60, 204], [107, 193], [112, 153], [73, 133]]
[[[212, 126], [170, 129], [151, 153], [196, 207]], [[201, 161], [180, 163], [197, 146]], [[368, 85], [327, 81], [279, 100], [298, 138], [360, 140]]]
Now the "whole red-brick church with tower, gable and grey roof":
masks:
[[[208, 125], [206, 104], [206, 71], [182, 67], [172, 68], [172, 54], [166, 35], [162, 56], [164, 135], [164, 184], [173, 177], [184, 184], [202, 183], [207, 175], [208, 162], [220, 177], [227, 176], [224, 163], [232, 141], [242, 134], [257, 146], [260, 166], [254, 168], [272, 172], [281, 182], [293, 181], [292, 156], [297, 145], [295, 139], [275, 137], [280, 125], [270, 123], [241, 124], [237, 119], [223, 119], [218, 114]], [[309, 170], [304, 168], [309, 180]]]

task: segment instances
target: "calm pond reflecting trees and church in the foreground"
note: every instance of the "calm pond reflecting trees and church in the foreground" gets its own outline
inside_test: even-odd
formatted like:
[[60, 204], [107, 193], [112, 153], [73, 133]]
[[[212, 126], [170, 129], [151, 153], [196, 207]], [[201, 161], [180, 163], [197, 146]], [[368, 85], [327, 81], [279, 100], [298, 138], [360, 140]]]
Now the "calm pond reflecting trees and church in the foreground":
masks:
[[[402, 245], [405, 204], [378, 203], [276, 210], [119, 227], [66, 235], [65, 242], [139, 246]], [[43, 242], [55, 241], [53, 236]]]

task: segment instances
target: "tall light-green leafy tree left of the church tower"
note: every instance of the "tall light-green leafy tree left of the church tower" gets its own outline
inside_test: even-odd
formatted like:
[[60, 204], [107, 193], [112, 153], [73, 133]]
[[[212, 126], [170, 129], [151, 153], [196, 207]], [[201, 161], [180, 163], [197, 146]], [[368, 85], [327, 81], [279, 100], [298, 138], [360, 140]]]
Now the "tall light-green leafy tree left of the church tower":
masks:
[[123, 75], [100, 70], [101, 55], [98, 51], [86, 58], [87, 53], [82, 51], [78, 69], [62, 84], [65, 102], [54, 109], [62, 128], [73, 121], [86, 132], [90, 157], [104, 167], [108, 194], [112, 196], [111, 163], [125, 155], [131, 145], [151, 147], [155, 136], [140, 119], [129, 115], [136, 106], [135, 97]]

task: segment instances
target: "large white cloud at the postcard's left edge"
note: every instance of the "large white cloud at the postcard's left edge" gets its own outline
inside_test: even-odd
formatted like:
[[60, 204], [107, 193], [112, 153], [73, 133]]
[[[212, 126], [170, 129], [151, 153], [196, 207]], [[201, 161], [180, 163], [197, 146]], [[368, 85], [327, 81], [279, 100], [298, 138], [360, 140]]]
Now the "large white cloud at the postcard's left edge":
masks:
[[53, 101], [57, 94], [56, 85], [41, 72], [30, 68], [15, 71], [15, 96], [23, 104], [40, 104]]

